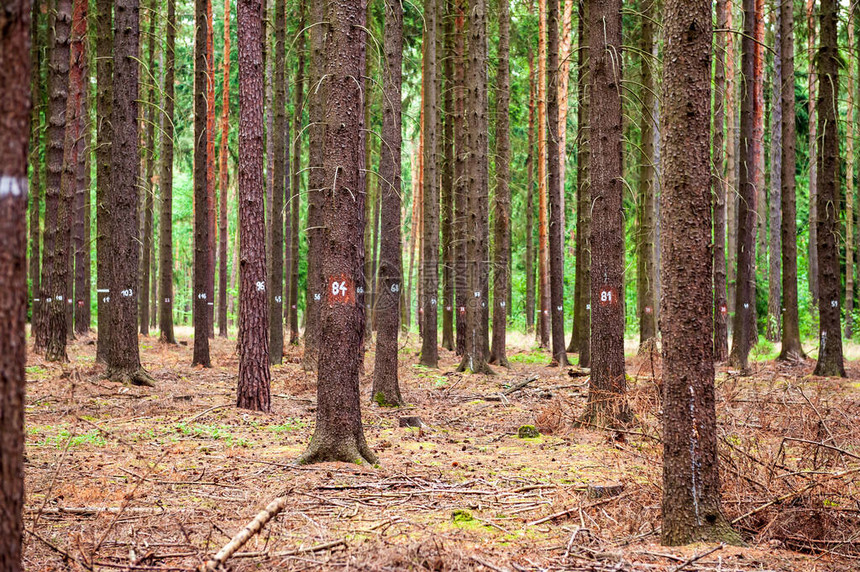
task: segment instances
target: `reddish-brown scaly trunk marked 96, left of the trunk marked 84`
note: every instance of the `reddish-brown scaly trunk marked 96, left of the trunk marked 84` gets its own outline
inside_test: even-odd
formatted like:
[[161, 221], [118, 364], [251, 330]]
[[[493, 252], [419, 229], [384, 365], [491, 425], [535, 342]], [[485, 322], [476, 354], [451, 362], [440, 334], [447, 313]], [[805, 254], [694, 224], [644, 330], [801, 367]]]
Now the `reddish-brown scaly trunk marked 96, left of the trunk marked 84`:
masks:
[[271, 409], [263, 204], [263, 26], [260, 0], [238, 0], [239, 382], [236, 405]]

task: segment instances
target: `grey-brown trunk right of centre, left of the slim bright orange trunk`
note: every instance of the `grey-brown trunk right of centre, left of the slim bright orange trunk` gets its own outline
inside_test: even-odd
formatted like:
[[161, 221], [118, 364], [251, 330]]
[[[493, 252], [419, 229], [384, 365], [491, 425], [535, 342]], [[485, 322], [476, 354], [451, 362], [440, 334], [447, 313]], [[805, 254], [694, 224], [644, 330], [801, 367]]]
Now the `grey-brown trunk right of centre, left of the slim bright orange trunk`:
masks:
[[[568, 0], [570, 1], [570, 0]], [[507, 367], [505, 354], [507, 332], [508, 268], [510, 266], [511, 189], [510, 160], [511, 142], [509, 131], [510, 105], [510, 27], [511, 15], [508, 0], [499, 0], [498, 67], [496, 70], [496, 196], [495, 237], [493, 264], [493, 347], [490, 363]], [[552, 64], [550, 64], [552, 65]], [[552, 125], [552, 123], [550, 123]], [[556, 142], [556, 151], [558, 142]], [[558, 174], [558, 169], [556, 169]], [[561, 352], [564, 354], [564, 328], [562, 327]], [[566, 357], [566, 356], [565, 356]]]

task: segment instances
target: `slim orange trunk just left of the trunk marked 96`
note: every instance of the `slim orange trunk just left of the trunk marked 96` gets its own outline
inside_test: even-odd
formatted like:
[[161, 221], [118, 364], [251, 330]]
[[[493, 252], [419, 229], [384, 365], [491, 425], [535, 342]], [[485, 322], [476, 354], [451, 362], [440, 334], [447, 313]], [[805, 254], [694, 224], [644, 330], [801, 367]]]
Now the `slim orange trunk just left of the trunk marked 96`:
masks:
[[[227, 189], [230, 186], [227, 146], [230, 140], [230, 0], [224, 0], [224, 86], [221, 94], [220, 182], [218, 184], [218, 335], [227, 337]], [[162, 227], [163, 228], [163, 227]], [[164, 232], [163, 230], [160, 232]]]

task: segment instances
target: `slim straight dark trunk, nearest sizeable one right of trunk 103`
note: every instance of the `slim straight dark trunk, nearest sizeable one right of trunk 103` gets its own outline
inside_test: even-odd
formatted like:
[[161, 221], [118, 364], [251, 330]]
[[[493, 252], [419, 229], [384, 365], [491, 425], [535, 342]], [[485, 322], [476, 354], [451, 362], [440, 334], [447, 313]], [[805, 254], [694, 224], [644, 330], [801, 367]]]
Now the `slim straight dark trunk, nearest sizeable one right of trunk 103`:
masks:
[[164, 111], [161, 118], [161, 209], [158, 233], [158, 328], [161, 341], [173, 335], [173, 108], [176, 73], [176, 0], [167, 0], [164, 48]]

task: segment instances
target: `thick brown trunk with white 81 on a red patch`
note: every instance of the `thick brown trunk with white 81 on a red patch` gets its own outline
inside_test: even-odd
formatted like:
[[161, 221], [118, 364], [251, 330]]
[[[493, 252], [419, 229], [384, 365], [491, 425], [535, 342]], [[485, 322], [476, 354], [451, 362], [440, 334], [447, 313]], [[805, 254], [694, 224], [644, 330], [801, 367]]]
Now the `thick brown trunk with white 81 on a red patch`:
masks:
[[[589, 5], [590, 146], [600, 157], [591, 175], [591, 381], [585, 417], [598, 425], [625, 422], [624, 230], [621, 209], [621, 2]], [[707, 187], [707, 186], [706, 186]]]

